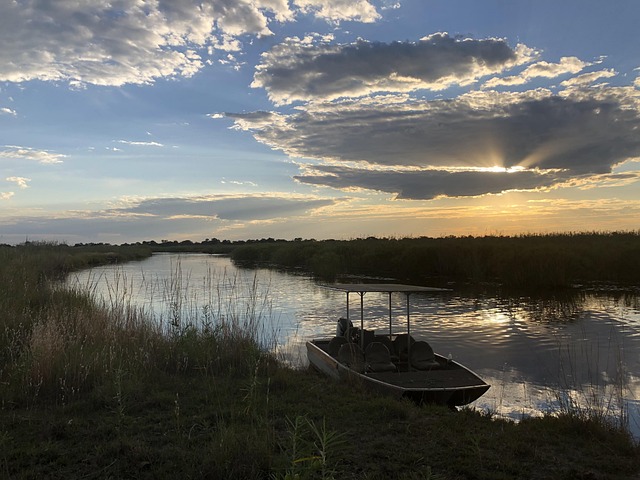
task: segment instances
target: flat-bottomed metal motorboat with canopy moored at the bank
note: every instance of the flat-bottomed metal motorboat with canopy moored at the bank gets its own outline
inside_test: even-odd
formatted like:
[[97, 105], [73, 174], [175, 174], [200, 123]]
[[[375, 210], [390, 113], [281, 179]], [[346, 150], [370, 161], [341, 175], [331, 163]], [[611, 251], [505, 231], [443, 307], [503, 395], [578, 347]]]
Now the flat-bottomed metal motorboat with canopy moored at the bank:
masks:
[[[390, 283], [340, 283], [323, 287], [346, 293], [347, 316], [337, 321], [336, 335], [306, 342], [309, 364], [337, 380], [360, 381], [367, 388], [419, 404], [435, 403], [451, 408], [480, 398], [490, 385], [451, 356], [433, 351], [428, 342], [411, 334], [409, 297], [446, 289]], [[377, 292], [389, 296], [389, 331], [365, 329], [364, 296]], [[349, 295], [360, 296], [360, 327], [349, 317]], [[391, 297], [406, 296], [406, 332], [393, 333]], [[386, 329], [385, 329], [386, 330]]]

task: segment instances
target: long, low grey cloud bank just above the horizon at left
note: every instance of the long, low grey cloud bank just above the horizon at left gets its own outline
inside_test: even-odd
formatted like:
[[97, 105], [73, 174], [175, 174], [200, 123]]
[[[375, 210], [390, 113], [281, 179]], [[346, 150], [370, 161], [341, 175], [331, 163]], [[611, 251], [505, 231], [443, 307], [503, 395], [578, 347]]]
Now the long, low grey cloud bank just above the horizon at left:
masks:
[[[0, 194], [0, 199], [8, 199], [10, 195], [4, 198]], [[37, 211], [5, 212], [0, 217], [0, 231], [2, 241], [11, 242], [24, 241], [25, 236], [61, 241], [100, 239], [115, 243], [159, 237], [197, 240], [225, 230], [242, 230], [248, 224], [259, 228], [282, 222], [286, 229], [296, 217], [308, 221], [311, 215], [319, 214], [320, 209], [337, 202], [287, 193], [123, 198], [99, 211], [62, 211], [46, 216]]]

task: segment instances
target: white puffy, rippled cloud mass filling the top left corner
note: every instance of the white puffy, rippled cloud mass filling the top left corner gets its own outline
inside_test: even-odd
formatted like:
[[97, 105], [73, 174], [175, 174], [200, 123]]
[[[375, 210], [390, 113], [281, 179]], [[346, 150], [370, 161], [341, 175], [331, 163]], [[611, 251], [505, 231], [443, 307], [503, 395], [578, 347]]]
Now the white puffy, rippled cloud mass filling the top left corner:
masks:
[[273, 22], [308, 13], [372, 21], [365, 0], [139, 0], [0, 2], [0, 81], [121, 86], [190, 77], [216, 49], [272, 35]]

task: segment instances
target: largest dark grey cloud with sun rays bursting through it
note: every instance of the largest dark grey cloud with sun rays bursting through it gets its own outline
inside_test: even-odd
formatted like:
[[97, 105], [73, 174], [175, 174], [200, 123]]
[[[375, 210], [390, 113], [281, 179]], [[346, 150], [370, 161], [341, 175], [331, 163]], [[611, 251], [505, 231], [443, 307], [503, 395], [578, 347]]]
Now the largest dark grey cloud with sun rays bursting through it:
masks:
[[633, 87], [479, 91], [436, 101], [385, 95], [298, 110], [272, 114], [274, 122], [230, 116], [260, 142], [309, 159], [298, 181], [403, 198], [548, 188], [640, 156]]

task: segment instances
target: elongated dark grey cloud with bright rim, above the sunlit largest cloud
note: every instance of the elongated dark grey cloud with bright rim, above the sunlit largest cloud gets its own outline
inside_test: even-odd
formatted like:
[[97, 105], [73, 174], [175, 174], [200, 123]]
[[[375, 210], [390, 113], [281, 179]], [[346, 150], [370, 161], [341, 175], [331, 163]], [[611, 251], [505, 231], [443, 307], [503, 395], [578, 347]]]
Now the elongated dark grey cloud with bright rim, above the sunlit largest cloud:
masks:
[[500, 39], [462, 39], [446, 33], [418, 42], [358, 40], [348, 45], [292, 37], [262, 55], [251, 86], [264, 88], [276, 105], [384, 91], [443, 90], [527, 63], [533, 54]]

